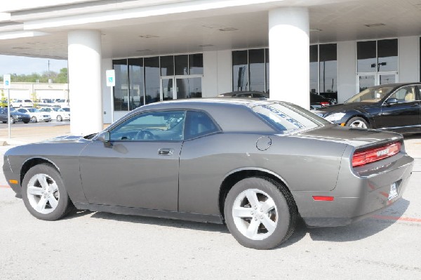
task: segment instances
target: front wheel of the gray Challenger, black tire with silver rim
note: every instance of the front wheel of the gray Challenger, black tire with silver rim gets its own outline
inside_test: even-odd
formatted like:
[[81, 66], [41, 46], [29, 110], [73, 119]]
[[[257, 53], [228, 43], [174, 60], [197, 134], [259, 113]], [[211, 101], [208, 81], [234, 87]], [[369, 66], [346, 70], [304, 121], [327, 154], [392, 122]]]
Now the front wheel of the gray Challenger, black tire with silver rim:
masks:
[[[48, 188], [44, 186], [43, 189], [39, 180], [40, 175], [41, 178], [46, 178], [44, 184], [48, 185]], [[28, 193], [29, 185], [32, 186], [32, 189], [36, 188], [36, 194]], [[40, 193], [38, 194], [38, 192]], [[39, 164], [29, 169], [22, 180], [22, 199], [29, 213], [40, 220], [58, 220], [67, 215], [74, 207], [60, 173], [51, 164]], [[44, 199], [46, 203], [44, 209], [40, 211], [34, 207], [41, 205], [41, 199]], [[50, 202], [53, 199], [56, 203], [55, 207]]]

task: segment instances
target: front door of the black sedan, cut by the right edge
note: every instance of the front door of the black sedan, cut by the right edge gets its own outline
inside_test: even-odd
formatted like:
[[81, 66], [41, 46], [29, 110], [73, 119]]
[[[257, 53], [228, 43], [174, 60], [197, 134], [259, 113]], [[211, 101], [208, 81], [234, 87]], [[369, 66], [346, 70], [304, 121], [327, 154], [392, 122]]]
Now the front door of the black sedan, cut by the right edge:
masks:
[[421, 105], [416, 86], [403, 86], [389, 95], [397, 103], [382, 105], [382, 116], [377, 120], [379, 127], [398, 132], [417, 132], [420, 130]]

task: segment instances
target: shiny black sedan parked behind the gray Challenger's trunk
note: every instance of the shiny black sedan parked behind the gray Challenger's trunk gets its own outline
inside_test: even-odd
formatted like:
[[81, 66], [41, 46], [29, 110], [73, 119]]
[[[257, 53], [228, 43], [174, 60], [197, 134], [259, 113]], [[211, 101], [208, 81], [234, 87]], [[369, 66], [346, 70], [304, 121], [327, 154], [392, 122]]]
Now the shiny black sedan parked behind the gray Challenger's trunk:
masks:
[[366, 88], [345, 101], [313, 112], [334, 124], [399, 133], [421, 132], [421, 83]]

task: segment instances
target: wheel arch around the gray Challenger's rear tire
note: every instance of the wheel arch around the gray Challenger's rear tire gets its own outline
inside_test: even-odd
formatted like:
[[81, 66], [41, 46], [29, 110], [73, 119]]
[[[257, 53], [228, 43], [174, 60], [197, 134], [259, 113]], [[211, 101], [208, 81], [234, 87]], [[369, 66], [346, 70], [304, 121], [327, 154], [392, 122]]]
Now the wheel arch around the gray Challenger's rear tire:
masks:
[[[278, 174], [268, 171], [263, 168], [241, 168], [237, 169], [235, 171], [232, 171], [231, 173], [228, 173], [225, 179], [222, 181], [222, 184], [220, 185], [220, 192], [218, 197], [218, 206], [220, 215], [222, 217], [222, 220], [225, 220], [224, 217], [224, 205], [225, 205], [225, 199], [227, 198], [227, 194], [234, 185], [245, 179], [245, 178], [251, 178], [251, 177], [261, 177], [261, 178], [267, 178], [269, 180], [272, 180], [274, 182], [278, 182], [279, 184], [283, 185], [287, 192], [293, 197], [292, 193], [290, 192], [290, 189], [288, 185], [286, 184], [286, 181]], [[297, 204], [295, 203], [295, 207], [297, 207]]]

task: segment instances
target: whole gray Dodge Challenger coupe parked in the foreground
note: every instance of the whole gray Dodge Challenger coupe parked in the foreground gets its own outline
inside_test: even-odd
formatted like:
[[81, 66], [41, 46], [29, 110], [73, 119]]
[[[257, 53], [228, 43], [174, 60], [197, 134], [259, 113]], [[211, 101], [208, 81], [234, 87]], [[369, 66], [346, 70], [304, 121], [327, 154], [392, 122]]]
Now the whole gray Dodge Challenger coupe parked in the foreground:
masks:
[[104, 131], [9, 149], [4, 175], [27, 210], [72, 208], [225, 222], [274, 248], [309, 227], [348, 225], [401, 198], [413, 168], [400, 134], [340, 127], [287, 102], [173, 100]]

